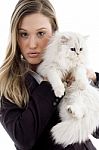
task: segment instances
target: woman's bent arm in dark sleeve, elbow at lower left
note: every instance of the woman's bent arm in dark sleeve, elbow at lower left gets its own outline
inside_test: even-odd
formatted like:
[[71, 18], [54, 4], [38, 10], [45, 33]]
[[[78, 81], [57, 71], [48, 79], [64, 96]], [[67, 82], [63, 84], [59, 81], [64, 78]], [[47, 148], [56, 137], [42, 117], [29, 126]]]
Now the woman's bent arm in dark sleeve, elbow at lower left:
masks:
[[32, 83], [29, 87], [31, 95], [26, 108], [21, 109], [2, 98], [1, 123], [20, 149], [35, 145], [59, 103], [47, 81], [35, 88], [33, 77], [29, 82]]

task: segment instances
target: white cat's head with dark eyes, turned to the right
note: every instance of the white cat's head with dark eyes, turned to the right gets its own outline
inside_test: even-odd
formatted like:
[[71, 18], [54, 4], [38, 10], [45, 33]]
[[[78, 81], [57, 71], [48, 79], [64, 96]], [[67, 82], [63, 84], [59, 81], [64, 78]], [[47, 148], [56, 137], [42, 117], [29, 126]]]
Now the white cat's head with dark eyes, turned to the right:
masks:
[[66, 57], [71, 59], [83, 59], [86, 57], [86, 37], [78, 33], [56, 33], [56, 38], [59, 47], [61, 47], [60, 53], [63, 53]]

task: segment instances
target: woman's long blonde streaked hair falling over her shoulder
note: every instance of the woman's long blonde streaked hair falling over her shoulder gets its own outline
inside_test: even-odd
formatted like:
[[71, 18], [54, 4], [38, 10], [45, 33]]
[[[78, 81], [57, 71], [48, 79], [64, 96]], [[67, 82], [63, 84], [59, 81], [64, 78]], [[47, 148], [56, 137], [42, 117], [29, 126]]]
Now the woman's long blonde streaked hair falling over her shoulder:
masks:
[[55, 11], [49, 0], [19, 0], [11, 17], [10, 40], [3, 65], [0, 68], [0, 96], [4, 96], [19, 107], [29, 100], [25, 86], [25, 74], [29, 65], [22, 61], [17, 43], [20, 21], [31, 13], [42, 13], [50, 19], [53, 32], [58, 29]]

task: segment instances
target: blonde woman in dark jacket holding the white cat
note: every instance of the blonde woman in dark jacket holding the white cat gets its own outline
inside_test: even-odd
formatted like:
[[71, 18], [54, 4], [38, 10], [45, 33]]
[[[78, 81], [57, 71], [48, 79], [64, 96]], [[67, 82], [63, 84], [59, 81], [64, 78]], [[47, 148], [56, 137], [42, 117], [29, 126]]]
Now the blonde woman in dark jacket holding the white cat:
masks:
[[[59, 122], [57, 106], [61, 98], [55, 97], [50, 83], [36, 73], [56, 30], [54, 8], [48, 0], [19, 0], [0, 68], [1, 123], [17, 150], [64, 149], [54, 144], [50, 135], [52, 126]], [[81, 149], [95, 150], [90, 140], [65, 148]]]

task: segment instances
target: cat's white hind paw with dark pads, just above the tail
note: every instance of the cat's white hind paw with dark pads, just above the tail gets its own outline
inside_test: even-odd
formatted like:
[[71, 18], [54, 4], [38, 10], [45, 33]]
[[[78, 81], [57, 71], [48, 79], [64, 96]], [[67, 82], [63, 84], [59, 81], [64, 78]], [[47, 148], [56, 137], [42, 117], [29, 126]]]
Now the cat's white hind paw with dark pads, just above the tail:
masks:
[[84, 112], [80, 109], [78, 109], [76, 106], [74, 105], [68, 105], [67, 106], [67, 112], [74, 118], [77, 118], [77, 119], [81, 119], [83, 118], [85, 115], [84, 115]]

